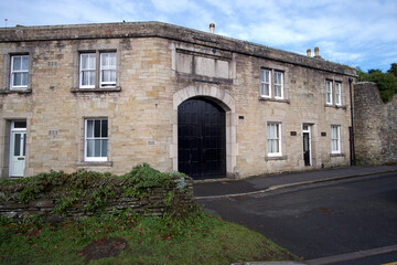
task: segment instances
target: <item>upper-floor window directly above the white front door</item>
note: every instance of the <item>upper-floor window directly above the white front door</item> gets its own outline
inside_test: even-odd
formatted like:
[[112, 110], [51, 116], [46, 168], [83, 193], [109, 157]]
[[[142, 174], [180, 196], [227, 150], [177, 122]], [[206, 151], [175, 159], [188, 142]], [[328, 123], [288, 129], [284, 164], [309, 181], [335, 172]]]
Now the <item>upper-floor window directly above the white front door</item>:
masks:
[[10, 89], [26, 89], [29, 83], [29, 55], [12, 55], [10, 72]]

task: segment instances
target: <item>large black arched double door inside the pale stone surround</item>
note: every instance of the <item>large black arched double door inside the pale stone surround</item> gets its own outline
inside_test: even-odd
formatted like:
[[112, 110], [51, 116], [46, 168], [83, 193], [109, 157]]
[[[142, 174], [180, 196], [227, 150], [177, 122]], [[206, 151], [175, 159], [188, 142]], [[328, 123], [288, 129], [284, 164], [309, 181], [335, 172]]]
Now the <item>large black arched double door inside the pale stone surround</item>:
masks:
[[194, 179], [226, 176], [225, 110], [204, 98], [178, 108], [178, 170]]

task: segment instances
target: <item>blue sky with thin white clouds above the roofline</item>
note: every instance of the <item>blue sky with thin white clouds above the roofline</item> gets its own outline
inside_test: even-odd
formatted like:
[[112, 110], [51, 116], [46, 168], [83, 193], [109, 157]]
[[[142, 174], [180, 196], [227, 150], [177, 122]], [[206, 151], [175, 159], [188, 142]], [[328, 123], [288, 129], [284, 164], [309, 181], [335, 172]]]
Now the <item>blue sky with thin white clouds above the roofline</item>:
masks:
[[[362, 70], [397, 63], [396, 0], [0, 0], [0, 25], [161, 21]], [[8, 20], [6, 22], [6, 19]]]

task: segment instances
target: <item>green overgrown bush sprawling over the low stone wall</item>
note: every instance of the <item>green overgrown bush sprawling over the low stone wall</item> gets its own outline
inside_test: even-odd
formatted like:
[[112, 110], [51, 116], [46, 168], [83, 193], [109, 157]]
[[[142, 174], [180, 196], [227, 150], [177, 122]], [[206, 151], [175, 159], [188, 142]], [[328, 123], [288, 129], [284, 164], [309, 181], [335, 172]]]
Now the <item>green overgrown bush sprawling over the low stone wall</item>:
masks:
[[165, 194], [163, 203], [169, 215], [175, 215], [190, 209], [176, 202], [179, 197], [175, 195], [186, 192], [186, 178], [180, 172], [160, 172], [148, 163], [138, 165], [124, 176], [85, 170], [73, 173], [51, 171], [29, 178], [0, 180], [0, 202], [12, 199], [29, 203], [50, 193], [55, 198], [55, 213], [66, 214], [77, 203], [83, 204], [85, 212], [101, 213], [115, 197], [142, 198], [155, 190], [174, 187], [173, 192]]

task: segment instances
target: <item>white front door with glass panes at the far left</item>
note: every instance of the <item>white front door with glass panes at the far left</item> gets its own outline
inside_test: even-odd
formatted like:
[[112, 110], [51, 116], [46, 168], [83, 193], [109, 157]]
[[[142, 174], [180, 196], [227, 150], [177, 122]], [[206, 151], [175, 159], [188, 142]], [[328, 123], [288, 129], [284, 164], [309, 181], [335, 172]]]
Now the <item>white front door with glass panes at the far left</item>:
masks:
[[26, 128], [14, 128], [14, 123], [11, 129], [10, 142], [10, 177], [23, 177], [26, 153]]

